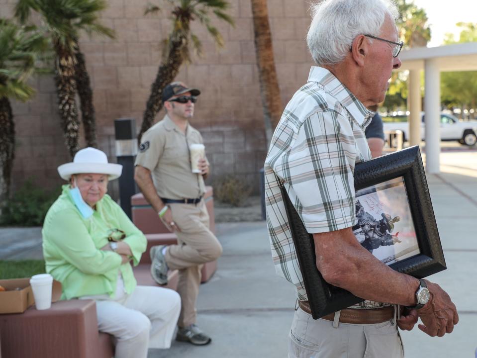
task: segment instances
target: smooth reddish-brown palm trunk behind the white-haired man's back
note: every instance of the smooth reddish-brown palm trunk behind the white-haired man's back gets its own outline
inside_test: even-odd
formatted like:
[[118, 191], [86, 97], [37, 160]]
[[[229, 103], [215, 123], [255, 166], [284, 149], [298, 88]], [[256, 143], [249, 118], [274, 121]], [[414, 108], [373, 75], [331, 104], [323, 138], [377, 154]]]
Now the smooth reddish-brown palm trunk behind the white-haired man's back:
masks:
[[270, 143], [272, 133], [282, 116], [283, 106], [273, 55], [267, 0], [252, 0], [252, 13], [265, 134], [267, 143]]

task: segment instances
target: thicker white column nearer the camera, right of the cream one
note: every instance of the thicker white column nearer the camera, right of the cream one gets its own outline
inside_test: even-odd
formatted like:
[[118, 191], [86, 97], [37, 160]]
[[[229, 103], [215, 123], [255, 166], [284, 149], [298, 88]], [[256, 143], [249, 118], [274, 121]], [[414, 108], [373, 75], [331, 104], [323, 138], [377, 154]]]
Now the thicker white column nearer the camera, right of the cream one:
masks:
[[441, 153], [441, 74], [436, 59], [425, 60], [425, 97], [426, 112], [426, 172], [440, 172], [439, 155]]

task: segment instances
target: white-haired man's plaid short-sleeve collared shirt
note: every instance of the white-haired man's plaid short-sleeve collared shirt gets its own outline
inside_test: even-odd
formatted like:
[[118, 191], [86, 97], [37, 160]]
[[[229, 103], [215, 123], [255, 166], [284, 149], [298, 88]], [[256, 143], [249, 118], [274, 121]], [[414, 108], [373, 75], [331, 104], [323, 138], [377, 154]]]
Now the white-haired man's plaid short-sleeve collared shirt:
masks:
[[[356, 223], [353, 172], [371, 159], [364, 130], [373, 112], [328, 70], [312, 67], [293, 95], [265, 160], [267, 226], [276, 271], [307, 300], [277, 177], [306, 230], [335, 231]], [[382, 305], [365, 301], [360, 307]]]

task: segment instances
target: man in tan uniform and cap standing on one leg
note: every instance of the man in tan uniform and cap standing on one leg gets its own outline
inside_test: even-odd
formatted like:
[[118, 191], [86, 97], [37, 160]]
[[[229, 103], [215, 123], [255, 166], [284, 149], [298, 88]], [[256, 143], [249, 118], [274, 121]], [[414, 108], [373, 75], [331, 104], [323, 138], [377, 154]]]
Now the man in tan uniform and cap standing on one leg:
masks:
[[[167, 270], [179, 270], [177, 291], [181, 295], [178, 341], [205, 345], [211, 339], [195, 325], [202, 264], [216, 260], [222, 247], [209, 230], [209, 216], [202, 199], [207, 159], [199, 160], [201, 173], [191, 171], [191, 144], [202, 144], [202, 136], [189, 124], [198, 89], [181, 82], [166, 86], [162, 101], [167, 114], [141, 139], [134, 179], [146, 200], [166, 227], [177, 235], [177, 245], [151, 248], [151, 274], [159, 284], [167, 283]], [[158, 302], [160, 304], [160, 302]]]

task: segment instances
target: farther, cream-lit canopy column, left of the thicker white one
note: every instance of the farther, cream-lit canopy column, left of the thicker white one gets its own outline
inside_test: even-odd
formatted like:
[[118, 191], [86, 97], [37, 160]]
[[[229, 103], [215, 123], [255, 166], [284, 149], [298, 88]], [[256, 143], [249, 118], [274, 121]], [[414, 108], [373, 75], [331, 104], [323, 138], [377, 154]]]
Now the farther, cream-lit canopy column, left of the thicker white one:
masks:
[[421, 71], [409, 71], [409, 145], [421, 142]]

